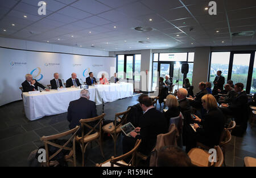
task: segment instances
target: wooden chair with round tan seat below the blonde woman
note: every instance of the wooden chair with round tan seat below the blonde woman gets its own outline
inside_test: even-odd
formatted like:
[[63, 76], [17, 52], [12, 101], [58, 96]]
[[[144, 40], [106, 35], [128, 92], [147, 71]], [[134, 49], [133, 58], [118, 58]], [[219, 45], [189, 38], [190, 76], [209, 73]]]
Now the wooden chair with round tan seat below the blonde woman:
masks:
[[192, 164], [199, 167], [221, 167], [224, 162], [224, 156], [220, 146], [214, 146], [216, 150], [217, 162], [209, 162], [209, 152], [199, 148], [193, 148], [188, 152]]

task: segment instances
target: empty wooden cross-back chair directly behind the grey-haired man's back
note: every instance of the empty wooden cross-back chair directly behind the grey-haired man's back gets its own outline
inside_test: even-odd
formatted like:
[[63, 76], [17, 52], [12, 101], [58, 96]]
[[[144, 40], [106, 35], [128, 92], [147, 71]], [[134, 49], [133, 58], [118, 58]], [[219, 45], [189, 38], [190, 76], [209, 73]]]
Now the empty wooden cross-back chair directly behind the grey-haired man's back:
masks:
[[[80, 119], [82, 137], [79, 137], [77, 135], [76, 141], [79, 142], [81, 151], [82, 151], [82, 166], [84, 166], [84, 153], [85, 153], [86, 147], [92, 141], [98, 142], [98, 145], [100, 145], [101, 155], [103, 158], [105, 157], [102, 150], [102, 138], [101, 138], [102, 136], [101, 130], [102, 130], [104, 116], [105, 116], [105, 113], [93, 118]], [[97, 124], [94, 127], [92, 127], [89, 125], [89, 122], [97, 122]], [[90, 129], [90, 131], [86, 134], [84, 134], [85, 128]], [[95, 132], [95, 133], [92, 133], [92, 132]]]

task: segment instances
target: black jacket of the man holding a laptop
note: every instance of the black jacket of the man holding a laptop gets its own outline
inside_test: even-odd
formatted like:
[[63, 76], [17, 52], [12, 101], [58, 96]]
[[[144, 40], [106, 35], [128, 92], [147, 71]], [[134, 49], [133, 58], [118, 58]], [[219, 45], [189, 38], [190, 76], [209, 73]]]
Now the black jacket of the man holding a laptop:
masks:
[[144, 155], [150, 154], [156, 144], [158, 134], [168, 132], [168, 125], [163, 113], [155, 108], [149, 109], [140, 119], [139, 127], [141, 134], [137, 135], [136, 139], [142, 139], [140, 151]]

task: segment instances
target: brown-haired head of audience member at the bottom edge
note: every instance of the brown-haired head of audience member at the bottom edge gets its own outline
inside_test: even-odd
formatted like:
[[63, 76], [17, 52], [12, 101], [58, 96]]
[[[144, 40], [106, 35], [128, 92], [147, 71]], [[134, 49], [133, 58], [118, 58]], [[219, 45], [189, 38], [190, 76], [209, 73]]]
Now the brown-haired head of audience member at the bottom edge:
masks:
[[193, 166], [189, 156], [177, 146], [164, 146], [158, 152], [157, 167]]

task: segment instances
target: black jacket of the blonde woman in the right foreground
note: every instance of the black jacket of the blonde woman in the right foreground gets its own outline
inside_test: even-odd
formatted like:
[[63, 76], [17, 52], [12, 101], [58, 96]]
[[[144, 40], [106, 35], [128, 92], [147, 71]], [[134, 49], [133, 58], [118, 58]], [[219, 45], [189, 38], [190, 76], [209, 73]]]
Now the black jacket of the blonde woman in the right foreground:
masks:
[[220, 109], [210, 109], [200, 122], [203, 128], [196, 129], [197, 141], [209, 147], [218, 145], [224, 130], [224, 120], [225, 117]]

